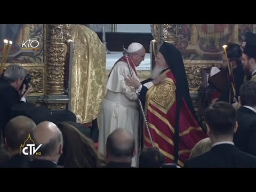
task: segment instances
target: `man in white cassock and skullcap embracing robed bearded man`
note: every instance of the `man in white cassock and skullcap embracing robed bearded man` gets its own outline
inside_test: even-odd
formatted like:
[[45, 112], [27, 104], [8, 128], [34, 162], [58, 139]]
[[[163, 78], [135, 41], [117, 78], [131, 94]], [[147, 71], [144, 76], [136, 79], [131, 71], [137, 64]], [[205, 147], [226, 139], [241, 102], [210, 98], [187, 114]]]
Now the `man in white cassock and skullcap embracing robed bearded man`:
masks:
[[[129, 63], [134, 78], [139, 80], [135, 67], [145, 59], [146, 50], [140, 43], [132, 43], [127, 49]], [[138, 151], [139, 103], [138, 95], [132, 86], [125, 84], [124, 78], [130, 76], [125, 56], [118, 59], [110, 71], [107, 93], [102, 101], [101, 127], [99, 129], [98, 151], [106, 153], [108, 135], [117, 128], [130, 131], [134, 135]], [[106, 154], [105, 154], [106, 155]], [[138, 155], [132, 158], [132, 166], [137, 166]]]

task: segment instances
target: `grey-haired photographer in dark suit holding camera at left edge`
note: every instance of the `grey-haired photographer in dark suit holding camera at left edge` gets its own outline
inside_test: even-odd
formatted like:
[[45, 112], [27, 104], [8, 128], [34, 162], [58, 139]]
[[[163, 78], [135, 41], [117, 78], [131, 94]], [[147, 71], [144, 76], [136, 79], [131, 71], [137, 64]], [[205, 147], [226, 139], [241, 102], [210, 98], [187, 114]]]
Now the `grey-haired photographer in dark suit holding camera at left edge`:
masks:
[[12, 107], [26, 102], [26, 97], [32, 90], [31, 87], [26, 89], [23, 82], [26, 76], [27, 73], [21, 66], [10, 65], [0, 79], [0, 129], [3, 137], [5, 136], [4, 127], [12, 118]]

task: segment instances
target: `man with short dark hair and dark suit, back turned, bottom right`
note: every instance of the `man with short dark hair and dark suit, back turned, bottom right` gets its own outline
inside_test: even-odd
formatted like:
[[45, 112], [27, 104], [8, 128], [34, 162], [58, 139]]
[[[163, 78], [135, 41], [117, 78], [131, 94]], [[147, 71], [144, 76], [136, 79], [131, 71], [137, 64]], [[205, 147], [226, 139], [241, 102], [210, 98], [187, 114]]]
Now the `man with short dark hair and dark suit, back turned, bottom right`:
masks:
[[212, 103], [205, 112], [205, 121], [212, 148], [188, 159], [184, 167], [256, 167], [256, 157], [239, 150], [233, 143], [233, 134], [237, 131], [236, 110], [229, 103]]

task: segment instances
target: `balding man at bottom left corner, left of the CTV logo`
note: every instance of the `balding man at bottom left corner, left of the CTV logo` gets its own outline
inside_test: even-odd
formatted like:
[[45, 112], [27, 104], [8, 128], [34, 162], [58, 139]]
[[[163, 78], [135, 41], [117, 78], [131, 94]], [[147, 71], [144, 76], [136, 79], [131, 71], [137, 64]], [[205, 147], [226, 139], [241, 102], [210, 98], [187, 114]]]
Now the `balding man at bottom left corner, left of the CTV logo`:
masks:
[[35, 127], [36, 124], [25, 116], [15, 117], [7, 123], [4, 141], [10, 158], [3, 164], [3, 167], [28, 167], [30, 156], [20, 154], [20, 146], [27, 140], [29, 133]]

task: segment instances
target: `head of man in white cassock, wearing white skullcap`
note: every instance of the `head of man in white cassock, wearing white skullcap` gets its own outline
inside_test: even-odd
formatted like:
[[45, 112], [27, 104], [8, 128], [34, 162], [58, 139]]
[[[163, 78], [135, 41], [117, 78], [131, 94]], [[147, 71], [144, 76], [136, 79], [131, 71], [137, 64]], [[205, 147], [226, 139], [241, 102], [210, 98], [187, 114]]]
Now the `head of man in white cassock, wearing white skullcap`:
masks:
[[138, 67], [141, 61], [144, 61], [145, 59], [146, 50], [140, 43], [131, 43], [128, 46], [127, 52], [136, 67]]

